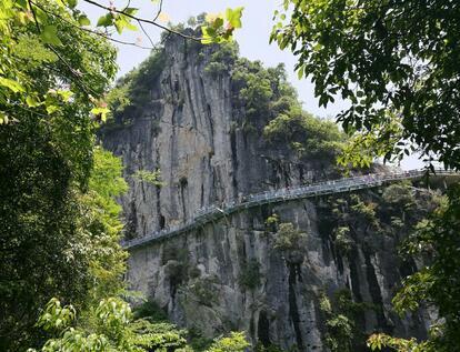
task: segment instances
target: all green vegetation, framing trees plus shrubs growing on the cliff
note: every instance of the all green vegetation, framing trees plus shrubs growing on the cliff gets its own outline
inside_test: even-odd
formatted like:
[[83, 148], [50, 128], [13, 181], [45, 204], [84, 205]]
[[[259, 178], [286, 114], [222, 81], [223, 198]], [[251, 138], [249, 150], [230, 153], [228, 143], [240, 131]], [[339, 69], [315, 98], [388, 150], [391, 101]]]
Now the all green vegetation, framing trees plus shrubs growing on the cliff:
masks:
[[[190, 38], [180, 27], [137, 17], [134, 8], [80, 1], [106, 11], [96, 24], [104, 30], [121, 33], [150, 23], [171, 36], [221, 44], [208, 74], [237, 68], [232, 80], [247, 118], [241, 125], [250, 132], [252, 120], [269, 115], [267, 142], [286, 143], [300, 158], [334, 160], [341, 153], [343, 167], [368, 167], [376, 157], [400, 160], [417, 150], [428, 161], [437, 157], [459, 169], [457, 1], [283, 1], [272, 41], [297, 56], [299, 77], [312, 78], [320, 104], [336, 94], [351, 102], [338, 117], [344, 132], [302, 111], [282, 68], [238, 58], [228, 42], [241, 27], [241, 8], [201, 19], [200, 38]], [[200, 343], [191, 332], [153, 319], [158, 311], [151, 306], [131, 311], [114, 201], [127, 183], [120, 160], [96, 134], [108, 117], [126, 109], [136, 113], [149, 84], [142, 80], [153, 77], [144, 73], [167, 58], [153, 54], [107, 95], [117, 73], [113, 38], [91, 27], [78, 2], [0, 3], [0, 350], [244, 351], [243, 333]], [[138, 177], [159, 182], [156, 174]], [[342, 255], [352, 250], [359, 219], [387, 234], [414, 225], [404, 255], [429, 253], [432, 260], [407, 278], [394, 308], [404, 313], [432, 304], [440, 316], [427, 341], [374, 334], [368, 343], [373, 350], [459, 351], [460, 189], [451, 187], [447, 200], [414, 204], [407, 185], [396, 188], [384, 194], [393, 204], [384, 221], [369, 200], [336, 204], [334, 245]], [[424, 219], [412, 212], [420, 204], [430, 210]], [[289, 223], [269, 222], [280, 250], [292, 250], [302, 238]], [[251, 278], [258, 270], [258, 263], [248, 263], [240, 284], [257, 285]], [[353, 345], [347, 339], [356, 329], [354, 309], [360, 308], [347, 293], [321, 302], [331, 350]]]

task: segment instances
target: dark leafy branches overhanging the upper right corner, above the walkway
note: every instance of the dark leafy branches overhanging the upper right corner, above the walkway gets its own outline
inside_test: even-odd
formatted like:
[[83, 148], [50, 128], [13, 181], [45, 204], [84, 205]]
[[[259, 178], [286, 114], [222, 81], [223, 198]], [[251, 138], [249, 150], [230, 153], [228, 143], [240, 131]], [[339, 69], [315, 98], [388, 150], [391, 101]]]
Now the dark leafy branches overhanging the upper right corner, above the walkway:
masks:
[[459, 11], [448, 0], [288, 0], [271, 40], [297, 56], [321, 105], [350, 101], [339, 121], [386, 145], [374, 152], [402, 157], [414, 143], [459, 168]]

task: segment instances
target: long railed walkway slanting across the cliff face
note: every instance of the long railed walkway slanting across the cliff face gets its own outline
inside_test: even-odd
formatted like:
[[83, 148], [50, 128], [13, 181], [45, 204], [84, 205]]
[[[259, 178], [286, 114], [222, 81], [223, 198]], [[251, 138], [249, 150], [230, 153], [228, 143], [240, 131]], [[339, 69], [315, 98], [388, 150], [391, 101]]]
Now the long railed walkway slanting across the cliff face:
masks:
[[[382, 182], [391, 182], [398, 180], [408, 180], [423, 177], [426, 170], [410, 170], [402, 172], [392, 172], [392, 173], [371, 173], [364, 175], [357, 175], [351, 178], [343, 178], [330, 181], [322, 181], [311, 184], [302, 184], [293, 188], [283, 188], [278, 190], [264, 191], [261, 193], [249, 194], [242, 198], [241, 202], [230, 201], [222, 203], [221, 208], [216, 204], [198, 209], [191, 219], [187, 220], [186, 223], [170, 225], [166, 229], [152, 232], [146, 237], [137, 238], [128, 241], [122, 241], [121, 245], [124, 249], [131, 249], [139, 247], [146, 243], [153, 241], [159, 241], [166, 238], [173, 237], [176, 234], [193, 230], [197, 227], [200, 227], [209, 221], [212, 221], [217, 218], [224, 217], [232, 212], [239, 211], [241, 209], [251, 208], [254, 205], [279, 202], [282, 200], [292, 200], [308, 198], [312, 195], [320, 194], [331, 194], [347, 192], [349, 190], [358, 190], [363, 188], [372, 188], [380, 185]], [[451, 170], [437, 170], [436, 175], [451, 175], [457, 172]]]

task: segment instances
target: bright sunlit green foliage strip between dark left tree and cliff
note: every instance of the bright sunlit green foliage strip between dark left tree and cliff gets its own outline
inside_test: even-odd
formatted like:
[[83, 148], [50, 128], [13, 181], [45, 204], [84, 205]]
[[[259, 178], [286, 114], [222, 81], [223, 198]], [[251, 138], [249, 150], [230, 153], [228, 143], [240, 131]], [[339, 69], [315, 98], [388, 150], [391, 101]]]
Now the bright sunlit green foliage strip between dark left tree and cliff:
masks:
[[121, 292], [128, 257], [119, 244], [123, 224], [120, 220], [121, 205], [114, 200], [128, 190], [121, 177], [121, 160], [99, 147], [94, 149], [93, 160], [89, 190], [79, 198], [82, 229], [80, 245], [86, 248], [92, 276], [87, 304]]

